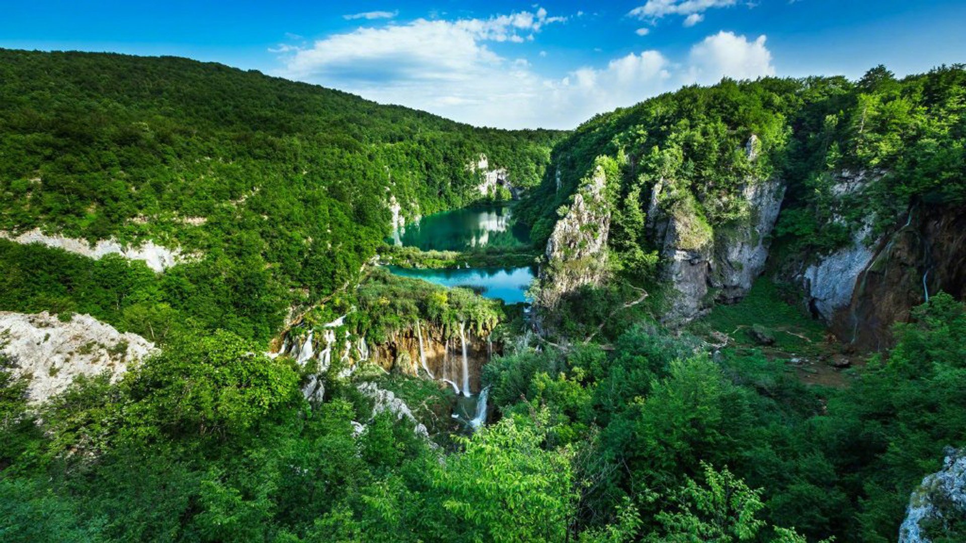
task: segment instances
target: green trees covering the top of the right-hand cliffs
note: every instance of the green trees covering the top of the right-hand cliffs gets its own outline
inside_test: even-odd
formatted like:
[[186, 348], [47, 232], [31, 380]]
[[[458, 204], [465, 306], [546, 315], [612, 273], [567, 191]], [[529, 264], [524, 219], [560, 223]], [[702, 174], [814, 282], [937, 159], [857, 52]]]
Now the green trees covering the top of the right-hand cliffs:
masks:
[[[745, 184], [776, 178], [787, 186], [776, 235], [814, 253], [851, 239], [870, 218], [882, 231], [917, 205], [966, 202], [966, 70], [942, 67], [895, 79], [878, 67], [844, 77], [725, 79], [686, 87], [597, 115], [554, 146], [543, 183], [517, 216], [547, 240], [597, 157], [615, 159], [609, 247], [621, 275], [646, 284], [655, 271], [647, 236], [654, 203], [696, 224], [709, 238], [749, 220]], [[867, 170], [848, 196], [840, 172]], [[872, 175], [878, 172], [877, 175]], [[848, 200], [852, 198], [852, 200]], [[861, 205], [856, 205], [861, 204]]]

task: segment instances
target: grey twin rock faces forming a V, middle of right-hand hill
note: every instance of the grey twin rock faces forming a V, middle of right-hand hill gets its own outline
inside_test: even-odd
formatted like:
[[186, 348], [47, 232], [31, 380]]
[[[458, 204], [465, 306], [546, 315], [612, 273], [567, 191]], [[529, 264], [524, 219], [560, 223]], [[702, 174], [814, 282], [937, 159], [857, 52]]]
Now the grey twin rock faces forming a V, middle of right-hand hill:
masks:
[[[745, 146], [749, 160], [756, 159], [758, 147], [753, 136]], [[784, 184], [749, 179], [732, 197], [738, 199], [741, 217], [712, 228], [689, 189], [664, 179], [651, 188], [647, 227], [674, 291], [662, 316], [666, 323], [687, 323], [716, 300], [741, 300], [764, 269]]]

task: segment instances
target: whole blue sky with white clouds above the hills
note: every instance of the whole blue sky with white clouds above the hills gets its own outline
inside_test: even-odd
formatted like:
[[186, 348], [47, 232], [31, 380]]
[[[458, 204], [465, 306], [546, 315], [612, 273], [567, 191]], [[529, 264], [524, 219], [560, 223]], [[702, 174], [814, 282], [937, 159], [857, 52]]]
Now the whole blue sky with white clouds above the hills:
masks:
[[478, 126], [560, 128], [723, 75], [966, 62], [966, 2], [5, 2], [0, 46], [170, 54]]

